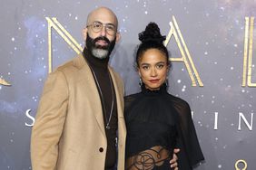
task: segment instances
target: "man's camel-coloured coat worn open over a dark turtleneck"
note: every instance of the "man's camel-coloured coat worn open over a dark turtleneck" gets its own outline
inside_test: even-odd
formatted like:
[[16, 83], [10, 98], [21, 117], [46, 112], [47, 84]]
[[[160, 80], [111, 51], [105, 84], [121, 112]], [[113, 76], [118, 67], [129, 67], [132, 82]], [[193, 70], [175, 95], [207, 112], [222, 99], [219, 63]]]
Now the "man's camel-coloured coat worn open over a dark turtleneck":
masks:
[[[118, 170], [124, 169], [123, 81], [109, 67], [118, 114]], [[103, 170], [107, 139], [101, 99], [84, 56], [50, 73], [31, 137], [33, 170]]]

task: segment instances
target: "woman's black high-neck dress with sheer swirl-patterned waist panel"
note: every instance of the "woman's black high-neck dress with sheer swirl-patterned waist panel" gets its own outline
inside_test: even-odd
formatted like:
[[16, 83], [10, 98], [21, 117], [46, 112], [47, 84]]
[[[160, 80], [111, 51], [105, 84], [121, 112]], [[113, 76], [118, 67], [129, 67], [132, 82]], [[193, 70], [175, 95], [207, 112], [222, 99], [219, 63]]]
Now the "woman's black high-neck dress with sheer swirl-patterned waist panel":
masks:
[[124, 98], [127, 127], [125, 169], [171, 169], [174, 147], [179, 170], [190, 170], [202, 161], [203, 155], [192, 123], [188, 103], [169, 94], [166, 86]]

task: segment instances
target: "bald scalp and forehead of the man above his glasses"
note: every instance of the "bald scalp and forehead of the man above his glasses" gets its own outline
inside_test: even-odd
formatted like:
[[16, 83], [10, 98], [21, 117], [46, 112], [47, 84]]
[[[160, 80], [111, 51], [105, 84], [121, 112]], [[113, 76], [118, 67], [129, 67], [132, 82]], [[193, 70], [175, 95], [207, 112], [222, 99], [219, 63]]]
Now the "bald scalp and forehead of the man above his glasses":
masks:
[[116, 15], [107, 7], [98, 7], [88, 14], [86, 25], [92, 24], [94, 21], [99, 21], [103, 24], [114, 24], [116, 28], [118, 26]]

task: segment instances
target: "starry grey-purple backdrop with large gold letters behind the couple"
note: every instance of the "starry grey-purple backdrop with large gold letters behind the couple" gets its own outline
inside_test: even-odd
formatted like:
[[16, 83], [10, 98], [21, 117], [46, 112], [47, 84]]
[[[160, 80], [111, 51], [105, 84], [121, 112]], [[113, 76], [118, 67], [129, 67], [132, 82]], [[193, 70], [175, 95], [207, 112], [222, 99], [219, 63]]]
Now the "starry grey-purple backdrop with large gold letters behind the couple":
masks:
[[169, 92], [188, 101], [205, 162], [256, 169], [256, 1], [4, 1], [0, 6], [0, 169], [31, 169], [30, 137], [47, 74], [84, 48], [95, 7], [110, 7], [122, 39], [110, 64], [138, 92], [138, 33], [159, 24], [171, 52]]

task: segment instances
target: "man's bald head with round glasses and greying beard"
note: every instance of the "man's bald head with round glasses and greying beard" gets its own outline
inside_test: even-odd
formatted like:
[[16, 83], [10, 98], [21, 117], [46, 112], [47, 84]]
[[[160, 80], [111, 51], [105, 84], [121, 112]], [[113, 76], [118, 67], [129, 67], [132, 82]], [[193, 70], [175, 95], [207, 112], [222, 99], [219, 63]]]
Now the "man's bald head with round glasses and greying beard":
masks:
[[120, 39], [117, 32], [117, 17], [112, 10], [99, 7], [88, 14], [83, 29], [85, 47], [94, 57], [104, 59], [113, 51], [115, 42]]

